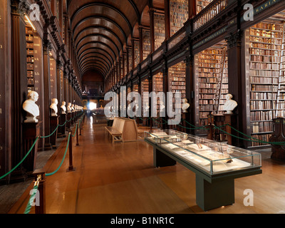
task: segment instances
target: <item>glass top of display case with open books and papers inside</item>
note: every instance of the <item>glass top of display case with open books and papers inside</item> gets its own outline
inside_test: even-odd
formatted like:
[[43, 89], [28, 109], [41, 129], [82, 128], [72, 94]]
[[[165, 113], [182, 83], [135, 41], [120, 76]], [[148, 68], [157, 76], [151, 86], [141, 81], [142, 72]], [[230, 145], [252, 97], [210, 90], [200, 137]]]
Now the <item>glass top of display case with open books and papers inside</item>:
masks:
[[261, 167], [257, 152], [176, 130], [151, 130], [145, 132], [145, 140], [209, 175]]

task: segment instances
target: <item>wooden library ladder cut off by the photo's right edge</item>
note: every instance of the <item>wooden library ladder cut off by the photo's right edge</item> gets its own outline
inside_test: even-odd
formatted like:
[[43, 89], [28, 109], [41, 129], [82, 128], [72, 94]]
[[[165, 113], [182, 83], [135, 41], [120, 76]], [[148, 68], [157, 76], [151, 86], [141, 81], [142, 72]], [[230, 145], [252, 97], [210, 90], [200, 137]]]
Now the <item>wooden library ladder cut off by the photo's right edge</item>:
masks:
[[284, 117], [285, 110], [285, 22], [283, 22], [282, 28], [282, 45], [281, 55], [279, 61], [279, 78], [278, 78], [278, 90], [276, 97], [276, 111], [275, 117]]

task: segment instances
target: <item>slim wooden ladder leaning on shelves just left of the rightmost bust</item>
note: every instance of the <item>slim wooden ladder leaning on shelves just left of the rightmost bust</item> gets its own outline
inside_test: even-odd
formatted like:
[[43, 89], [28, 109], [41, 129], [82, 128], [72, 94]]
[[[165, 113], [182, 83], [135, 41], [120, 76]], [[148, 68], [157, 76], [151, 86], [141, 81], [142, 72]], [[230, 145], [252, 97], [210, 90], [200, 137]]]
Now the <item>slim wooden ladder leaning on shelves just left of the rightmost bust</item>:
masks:
[[220, 71], [217, 77], [217, 89], [214, 95], [214, 113], [215, 114], [219, 114], [219, 103], [221, 100], [222, 82], [224, 79], [224, 69], [225, 69], [226, 58], [227, 58], [227, 48], [223, 48], [221, 67], [220, 67]]

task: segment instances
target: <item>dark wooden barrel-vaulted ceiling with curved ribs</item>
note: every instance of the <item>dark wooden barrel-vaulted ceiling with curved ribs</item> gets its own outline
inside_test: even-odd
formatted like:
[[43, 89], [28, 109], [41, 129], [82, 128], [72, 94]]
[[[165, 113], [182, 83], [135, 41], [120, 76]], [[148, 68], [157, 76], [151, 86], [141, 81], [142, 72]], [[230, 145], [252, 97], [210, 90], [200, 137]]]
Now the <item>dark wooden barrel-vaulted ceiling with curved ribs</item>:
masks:
[[70, 0], [68, 16], [81, 74], [93, 70], [104, 77], [130, 46], [148, 0]]

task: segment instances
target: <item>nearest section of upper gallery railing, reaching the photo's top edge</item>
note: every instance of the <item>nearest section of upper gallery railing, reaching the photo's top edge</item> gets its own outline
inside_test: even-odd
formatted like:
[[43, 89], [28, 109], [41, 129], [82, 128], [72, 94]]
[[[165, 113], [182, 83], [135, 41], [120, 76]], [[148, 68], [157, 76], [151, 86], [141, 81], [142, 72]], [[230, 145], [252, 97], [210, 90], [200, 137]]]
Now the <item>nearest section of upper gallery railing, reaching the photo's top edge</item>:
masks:
[[198, 30], [204, 26], [204, 24], [207, 24], [214, 19], [214, 16], [217, 16], [221, 11], [224, 11], [228, 4], [229, 0], [212, 1], [193, 19], [193, 31]]

